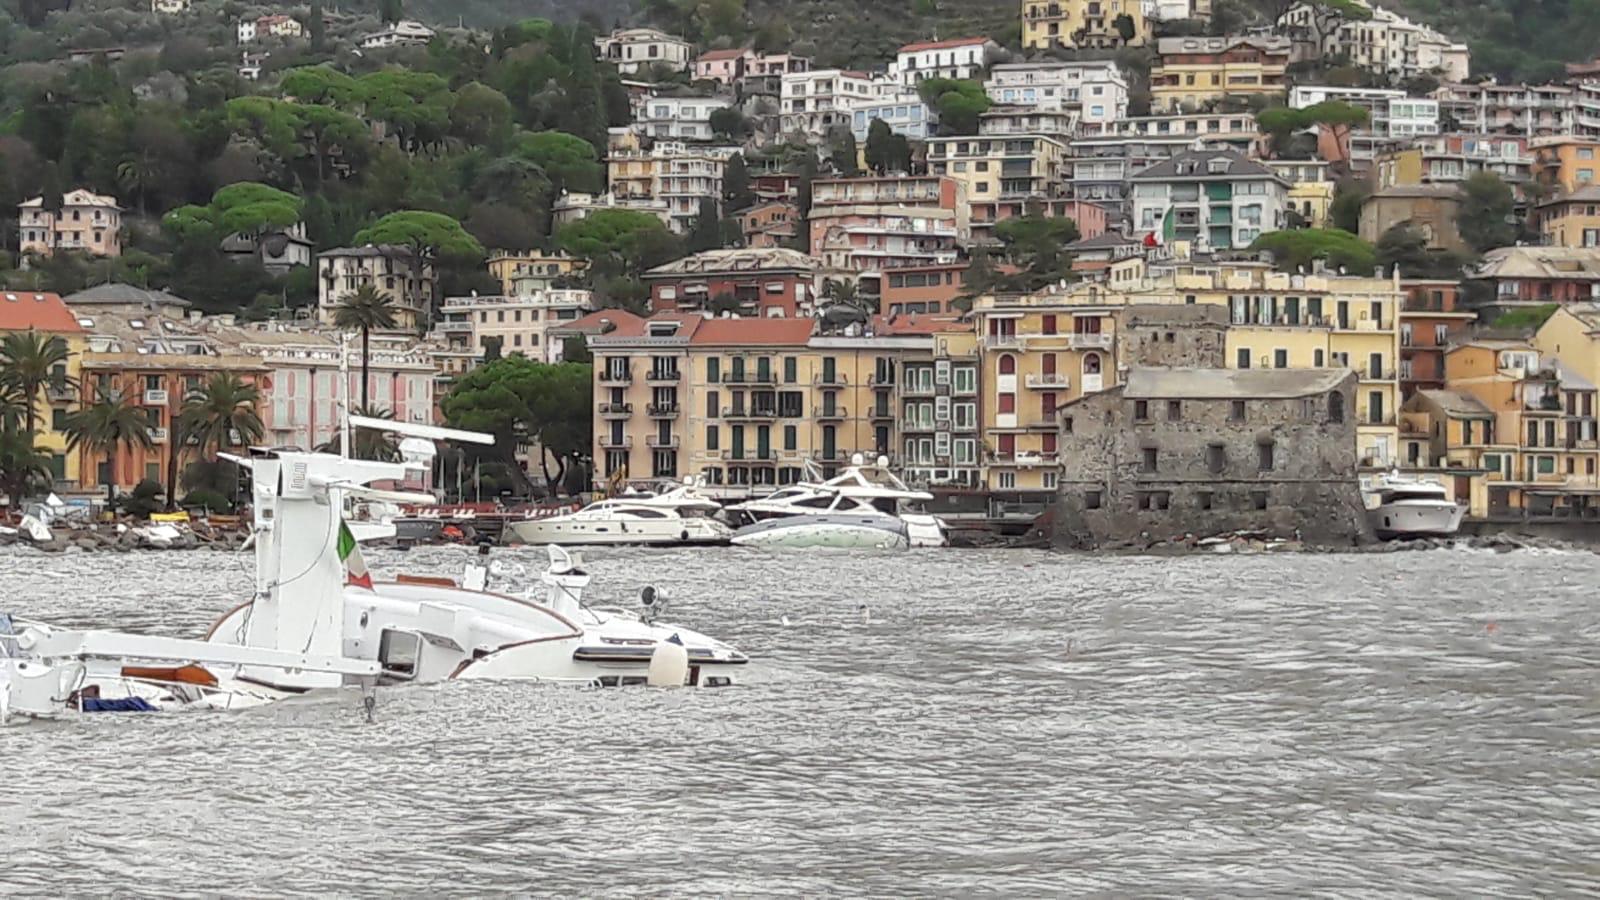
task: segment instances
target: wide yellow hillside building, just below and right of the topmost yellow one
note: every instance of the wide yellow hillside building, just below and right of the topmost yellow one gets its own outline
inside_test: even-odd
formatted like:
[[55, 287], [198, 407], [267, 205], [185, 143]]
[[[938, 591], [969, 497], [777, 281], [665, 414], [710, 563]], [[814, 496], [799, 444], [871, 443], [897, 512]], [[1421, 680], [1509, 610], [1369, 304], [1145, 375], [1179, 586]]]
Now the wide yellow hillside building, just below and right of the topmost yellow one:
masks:
[[1163, 37], [1150, 67], [1150, 110], [1186, 112], [1226, 96], [1283, 96], [1286, 37]]

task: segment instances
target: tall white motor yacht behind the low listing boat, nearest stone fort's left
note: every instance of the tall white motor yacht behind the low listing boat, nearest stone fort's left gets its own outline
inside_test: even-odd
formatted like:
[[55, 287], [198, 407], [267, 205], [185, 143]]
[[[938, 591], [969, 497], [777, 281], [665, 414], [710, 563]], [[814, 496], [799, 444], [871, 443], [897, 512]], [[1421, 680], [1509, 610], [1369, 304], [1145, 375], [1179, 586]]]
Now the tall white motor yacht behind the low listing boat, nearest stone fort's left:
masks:
[[[755, 528], [771, 520], [826, 516], [834, 522], [816, 522], [816, 528], [798, 530], [786, 535], [782, 546], [846, 546], [843, 535], [834, 527], [837, 517], [877, 517], [890, 524], [890, 530], [906, 535], [906, 546], [926, 548], [944, 546], [944, 522], [938, 516], [930, 516], [922, 504], [933, 500], [923, 490], [912, 490], [888, 469], [888, 460], [878, 458], [877, 464], [866, 464], [858, 453], [843, 472], [827, 480], [800, 482], [782, 487], [773, 493], [747, 500], [728, 508], [730, 514], [744, 516], [750, 525], [734, 533], [733, 543], [771, 543], [774, 527]], [[792, 522], [798, 525], [800, 522]], [[898, 525], [898, 527], [896, 527]], [[878, 546], [883, 528], [878, 533], [853, 530], [861, 538], [864, 548]], [[816, 535], [819, 543], [806, 543], [806, 535]]]

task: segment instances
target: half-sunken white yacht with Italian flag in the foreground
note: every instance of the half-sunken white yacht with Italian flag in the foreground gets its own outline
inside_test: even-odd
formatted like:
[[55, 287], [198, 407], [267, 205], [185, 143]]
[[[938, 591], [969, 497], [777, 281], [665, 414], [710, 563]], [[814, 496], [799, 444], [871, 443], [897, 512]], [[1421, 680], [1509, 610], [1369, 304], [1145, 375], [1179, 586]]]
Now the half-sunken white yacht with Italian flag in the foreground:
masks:
[[[203, 641], [59, 629], [0, 617], [0, 722], [94, 711], [246, 708], [309, 690], [461, 679], [570, 684], [731, 684], [747, 658], [704, 634], [645, 615], [582, 602], [589, 575], [558, 548], [541, 581], [542, 602], [442, 578], [373, 581], [341, 516], [346, 495], [413, 503], [379, 490], [432, 458], [430, 439], [493, 437], [360, 420], [422, 440], [403, 463], [326, 453], [251, 450], [256, 504], [254, 594]], [[421, 447], [419, 447], [421, 445]]]

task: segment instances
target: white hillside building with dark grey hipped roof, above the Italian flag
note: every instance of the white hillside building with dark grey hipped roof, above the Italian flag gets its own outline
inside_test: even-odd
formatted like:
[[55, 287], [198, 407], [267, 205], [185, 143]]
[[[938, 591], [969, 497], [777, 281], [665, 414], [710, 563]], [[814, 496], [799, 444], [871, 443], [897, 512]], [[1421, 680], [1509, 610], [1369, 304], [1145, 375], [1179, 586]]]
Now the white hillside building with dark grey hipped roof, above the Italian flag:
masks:
[[1194, 242], [1203, 250], [1243, 250], [1283, 227], [1290, 184], [1237, 151], [1186, 151], [1134, 175], [1136, 235]]

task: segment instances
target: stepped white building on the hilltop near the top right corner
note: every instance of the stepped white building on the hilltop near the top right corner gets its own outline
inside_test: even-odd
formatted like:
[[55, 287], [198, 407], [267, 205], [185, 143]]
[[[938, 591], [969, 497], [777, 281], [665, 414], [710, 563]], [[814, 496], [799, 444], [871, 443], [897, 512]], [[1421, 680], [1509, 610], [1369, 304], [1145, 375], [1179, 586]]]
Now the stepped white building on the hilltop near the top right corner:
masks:
[[1373, 16], [1342, 21], [1326, 35], [1317, 34], [1315, 6], [1291, 6], [1280, 19], [1280, 27], [1294, 40], [1294, 58], [1347, 56], [1352, 66], [1398, 78], [1429, 74], [1446, 82], [1467, 78], [1472, 67], [1467, 45], [1365, 0], [1354, 2], [1368, 6]]

